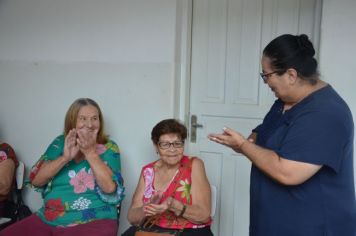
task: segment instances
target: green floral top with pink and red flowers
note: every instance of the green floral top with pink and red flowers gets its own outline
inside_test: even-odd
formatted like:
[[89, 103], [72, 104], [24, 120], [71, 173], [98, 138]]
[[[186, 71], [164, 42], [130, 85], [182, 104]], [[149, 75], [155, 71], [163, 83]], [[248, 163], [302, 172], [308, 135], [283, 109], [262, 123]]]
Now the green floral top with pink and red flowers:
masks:
[[[60, 135], [32, 167], [27, 182], [31, 183], [43, 162], [60, 157], [63, 154], [63, 148], [64, 136]], [[96, 151], [114, 173], [113, 181], [117, 184], [116, 192], [112, 194], [102, 192], [95, 182], [89, 163], [86, 160], [79, 163], [72, 160], [47, 185], [35, 188], [42, 193], [44, 200], [44, 206], [36, 214], [45, 223], [69, 227], [97, 219], [116, 220], [116, 205], [124, 197], [119, 148], [110, 140], [105, 145], [97, 145]]]

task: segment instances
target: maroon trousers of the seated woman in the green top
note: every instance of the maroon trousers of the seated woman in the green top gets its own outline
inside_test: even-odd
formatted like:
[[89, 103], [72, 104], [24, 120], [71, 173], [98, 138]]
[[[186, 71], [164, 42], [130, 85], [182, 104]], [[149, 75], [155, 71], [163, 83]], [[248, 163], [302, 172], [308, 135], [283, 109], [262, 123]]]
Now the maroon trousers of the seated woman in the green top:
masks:
[[0, 231], [0, 236], [32, 235], [38, 236], [116, 236], [115, 220], [95, 220], [87, 224], [73, 227], [53, 227], [45, 224], [35, 214]]

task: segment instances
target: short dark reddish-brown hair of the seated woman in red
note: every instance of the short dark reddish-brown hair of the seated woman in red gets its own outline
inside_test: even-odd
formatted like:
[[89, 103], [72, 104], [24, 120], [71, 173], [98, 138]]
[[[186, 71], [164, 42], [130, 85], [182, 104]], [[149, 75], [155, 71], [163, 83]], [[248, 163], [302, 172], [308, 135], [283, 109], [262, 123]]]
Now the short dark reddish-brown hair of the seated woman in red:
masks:
[[151, 139], [153, 143], [158, 144], [159, 138], [164, 134], [177, 134], [184, 141], [187, 138], [187, 128], [176, 119], [162, 120], [152, 129]]

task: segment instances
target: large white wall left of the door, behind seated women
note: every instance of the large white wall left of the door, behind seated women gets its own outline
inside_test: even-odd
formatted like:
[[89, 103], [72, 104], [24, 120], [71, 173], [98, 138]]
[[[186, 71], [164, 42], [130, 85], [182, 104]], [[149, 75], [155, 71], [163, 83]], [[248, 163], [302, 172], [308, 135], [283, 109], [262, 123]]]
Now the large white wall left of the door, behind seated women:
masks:
[[[0, 141], [30, 166], [63, 129], [69, 105], [91, 97], [121, 147], [126, 199], [156, 154], [150, 131], [173, 116], [176, 1], [1, 0]], [[33, 210], [40, 195], [26, 190]]]

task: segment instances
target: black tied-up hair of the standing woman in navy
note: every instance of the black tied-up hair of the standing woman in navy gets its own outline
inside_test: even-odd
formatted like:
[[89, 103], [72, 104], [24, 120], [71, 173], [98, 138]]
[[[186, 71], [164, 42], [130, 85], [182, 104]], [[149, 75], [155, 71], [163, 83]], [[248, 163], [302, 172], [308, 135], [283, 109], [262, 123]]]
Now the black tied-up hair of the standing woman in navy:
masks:
[[314, 58], [312, 42], [305, 34], [283, 34], [273, 39], [263, 50], [263, 55], [271, 60], [271, 67], [280, 71], [279, 75], [293, 68], [301, 79], [311, 84], [318, 80], [318, 63]]

